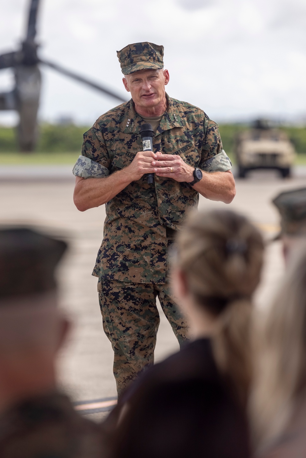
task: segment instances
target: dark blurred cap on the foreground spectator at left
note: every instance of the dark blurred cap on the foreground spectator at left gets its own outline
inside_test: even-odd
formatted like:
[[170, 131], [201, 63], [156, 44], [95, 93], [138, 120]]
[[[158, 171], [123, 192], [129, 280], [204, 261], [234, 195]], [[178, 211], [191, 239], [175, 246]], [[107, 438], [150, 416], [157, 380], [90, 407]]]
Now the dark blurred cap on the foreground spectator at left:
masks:
[[55, 289], [67, 244], [25, 227], [0, 228], [0, 301]]

